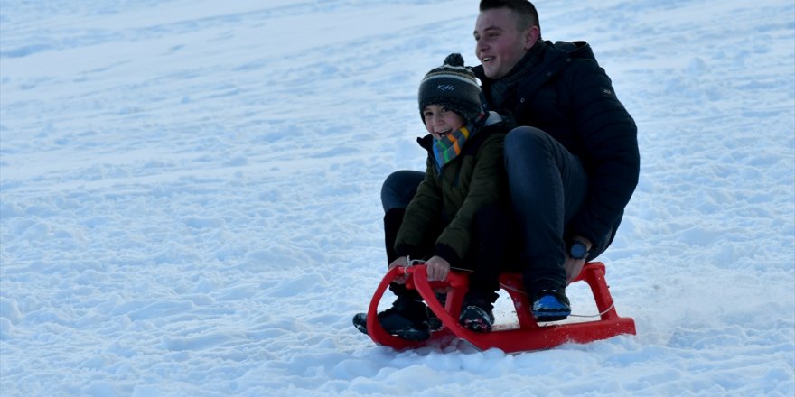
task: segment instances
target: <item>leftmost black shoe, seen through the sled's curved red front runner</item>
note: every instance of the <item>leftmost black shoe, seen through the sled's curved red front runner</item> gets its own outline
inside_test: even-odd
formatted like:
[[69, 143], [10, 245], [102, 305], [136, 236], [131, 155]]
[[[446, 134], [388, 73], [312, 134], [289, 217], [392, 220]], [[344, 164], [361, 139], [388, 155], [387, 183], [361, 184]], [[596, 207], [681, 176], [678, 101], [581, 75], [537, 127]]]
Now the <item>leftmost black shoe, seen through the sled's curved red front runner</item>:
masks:
[[[421, 341], [431, 337], [425, 303], [397, 298], [392, 307], [379, 313], [379, 322], [389, 334], [407, 340]], [[367, 334], [367, 313], [353, 316], [353, 326]]]

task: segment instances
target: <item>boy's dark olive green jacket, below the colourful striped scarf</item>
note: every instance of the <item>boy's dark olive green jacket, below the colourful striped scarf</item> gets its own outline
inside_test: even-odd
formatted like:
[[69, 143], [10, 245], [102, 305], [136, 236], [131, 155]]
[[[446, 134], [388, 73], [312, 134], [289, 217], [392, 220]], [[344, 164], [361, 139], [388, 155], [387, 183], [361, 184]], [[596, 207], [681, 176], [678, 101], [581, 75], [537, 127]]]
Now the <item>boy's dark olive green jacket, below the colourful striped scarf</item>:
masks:
[[508, 202], [503, 141], [513, 126], [510, 120], [491, 125], [487, 122], [441, 172], [434, 159], [433, 136], [417, 138], [428, 151], [426, 177], [408, 204], [397, 232], [396, 254], [427, 259], [429, 253], [421, 247], [434, 246], [433, 254], [451, 266], [463, 264], [472, 246], [472, 219], [478, 209]]

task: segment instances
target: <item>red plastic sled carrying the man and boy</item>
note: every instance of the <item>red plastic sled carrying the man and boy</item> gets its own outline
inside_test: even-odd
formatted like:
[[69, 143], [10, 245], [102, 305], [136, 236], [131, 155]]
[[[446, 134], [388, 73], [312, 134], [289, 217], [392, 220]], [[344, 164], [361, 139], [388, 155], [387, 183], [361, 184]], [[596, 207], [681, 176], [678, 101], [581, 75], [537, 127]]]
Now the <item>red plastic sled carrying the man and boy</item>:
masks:
[[[442, 329], [433, 332], [431, 338], [426, 341], [409, 341], [389, 335], [378, 321], [379, 301], [384, 291], [387, 290], [389, 282], [403, 274], [408, 276], [407, 287], [416, 289], [426, 300], [428, 307], [442, 320]], [[424, 264], [396, 267], [387, 272], [370, 301], [367, 313], [368, 334], [376, 344], [396, 349], [428, 346], [434, 342], [438, 343], [439, 340], [460, 338], [481, 350], [496, 347], [506, 353], [547, 349], [566, 342], [588, 343], [621, 334], [635, 334], [635, 321], [620, 317], [613, 307], [613, 297], [610, 295], [607, 282], [604, 281], [604, 263], [585, 263], [583, 271], [575, 280], [578, 281], [585, 281], [591, 287], [596, 307], [601, 314], [600, 319], [576, 323], [546, 323], [550, 325], [539, 326], [530, 313], [528, 295], [522, 291], [521, 275], [503, 273], [500, 276], [500, 285], [513, 300], [519, 328], [494, 329], [490, 333], [481, 334], [463, 328], [458, 323], [463, 295], [469, 284], [466, 273], [450, 272], [444, 282], [428, 282]], [[449, 291], [443, 308], [435, 297], [434, 289], [447, 287]]]

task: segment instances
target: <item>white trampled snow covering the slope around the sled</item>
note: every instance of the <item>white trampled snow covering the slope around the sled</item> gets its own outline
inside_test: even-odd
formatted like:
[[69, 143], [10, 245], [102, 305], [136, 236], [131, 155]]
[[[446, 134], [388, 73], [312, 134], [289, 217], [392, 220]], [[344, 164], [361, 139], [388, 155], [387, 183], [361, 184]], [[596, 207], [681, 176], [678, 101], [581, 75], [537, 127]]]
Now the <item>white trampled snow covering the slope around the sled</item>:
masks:
[[476, 2], [0, 5], [4, 397], [795, 394], [790, 0], [538, 1], [639, 126], [600, 258], [638, 335], [517, 355], [351, 327], [381, 181], [424, 169], [417, 84], [477, 62]]

